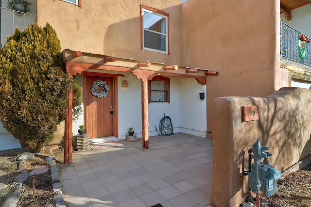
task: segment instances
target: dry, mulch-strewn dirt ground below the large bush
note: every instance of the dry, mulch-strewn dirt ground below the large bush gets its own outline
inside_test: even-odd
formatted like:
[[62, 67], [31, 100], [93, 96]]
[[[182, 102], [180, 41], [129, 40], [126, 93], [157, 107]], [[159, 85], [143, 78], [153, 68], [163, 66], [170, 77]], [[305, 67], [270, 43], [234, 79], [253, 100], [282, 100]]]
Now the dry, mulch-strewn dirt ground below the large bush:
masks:
[[[44, 160], [54, 155], [57, 168], [64, 165], [64, 152], [62, 149], [45, 148], [35, 155], [34, 159], [21, 161], [19, 170], [26, 169], [30, 173], [33, 169], [43, 166], [49, 166]], [[0, 205], [6, 196], [15, 191], [15, 178], [19, 175], [15, 158], [22, 151], [27, 150], [10, 150], [0, 152]], [[23, 183], [21, 199], [17, 207], [55, 207], [55, 201], [52, 194], [51, 173], [29, 176]]]

